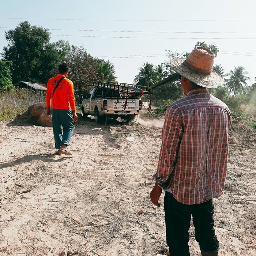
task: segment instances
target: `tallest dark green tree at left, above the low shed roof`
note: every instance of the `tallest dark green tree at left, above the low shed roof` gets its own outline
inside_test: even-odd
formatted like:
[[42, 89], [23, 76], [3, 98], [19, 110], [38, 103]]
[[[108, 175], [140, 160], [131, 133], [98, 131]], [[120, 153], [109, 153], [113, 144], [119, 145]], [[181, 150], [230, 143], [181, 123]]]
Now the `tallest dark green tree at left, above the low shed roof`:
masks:
[[[3, 48], [3, 57], [12, 61], [12, 81], [42, 82], [42, 59], [50, 40], [48, 29], [21, 22], [14, 30], [5, 32], [8, 45]], [[44, 60], [45, 61], [45, 60]]]

